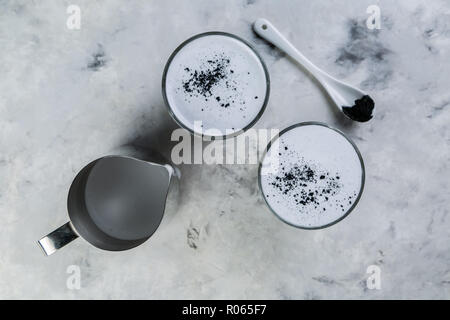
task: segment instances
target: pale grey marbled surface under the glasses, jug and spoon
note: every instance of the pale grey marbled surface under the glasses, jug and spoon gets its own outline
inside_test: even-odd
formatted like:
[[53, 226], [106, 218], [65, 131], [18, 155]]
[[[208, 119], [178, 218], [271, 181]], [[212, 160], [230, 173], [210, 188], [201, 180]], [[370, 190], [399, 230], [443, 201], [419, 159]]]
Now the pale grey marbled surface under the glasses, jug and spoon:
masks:
[[[70, 4], [80, 30], [66, 27]], [[365, 25], [371, 4], [381, 30]], [[258, 17], [370, 92], [376, 117], [336, 114], [252, 33]], [[130, 143], [170, 150], [177, 126], [162, 70], [180, 42], [210, 30], [247, 39], [268, 65], [257, 128], [318, 120], [354, 139], [367, 174], [357, 209], [328, 229], [298, 230], [265, 207], [256, 166], [186, 165], [176, 217], [145, 244], [112, 253], [78, 239], [45, 257], [36, 241], [67, 222], [67, 191], [85, 164]], [[448, 1], [4, 0], [0, 48], [0, 298], [450, 298]], [[66, 285], [71, 265], [79, 290]], [[380, 290], [366, 286], [370, 265]]]

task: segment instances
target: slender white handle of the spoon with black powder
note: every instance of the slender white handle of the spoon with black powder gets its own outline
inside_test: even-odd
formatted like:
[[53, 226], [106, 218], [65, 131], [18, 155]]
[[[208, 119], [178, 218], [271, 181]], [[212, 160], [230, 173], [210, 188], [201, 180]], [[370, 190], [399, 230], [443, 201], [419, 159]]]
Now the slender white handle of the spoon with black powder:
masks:
[[280, 50], [287, 53], [294, 60], [300, 63], [314, 77], [322, 82], [322, 77], [328, 75], [311, 61], [309, 61], [300, 51], [298, 51], [269, 21], [259, 18], [253, 24], [253, 30], [263, 39], [271, 42]]

